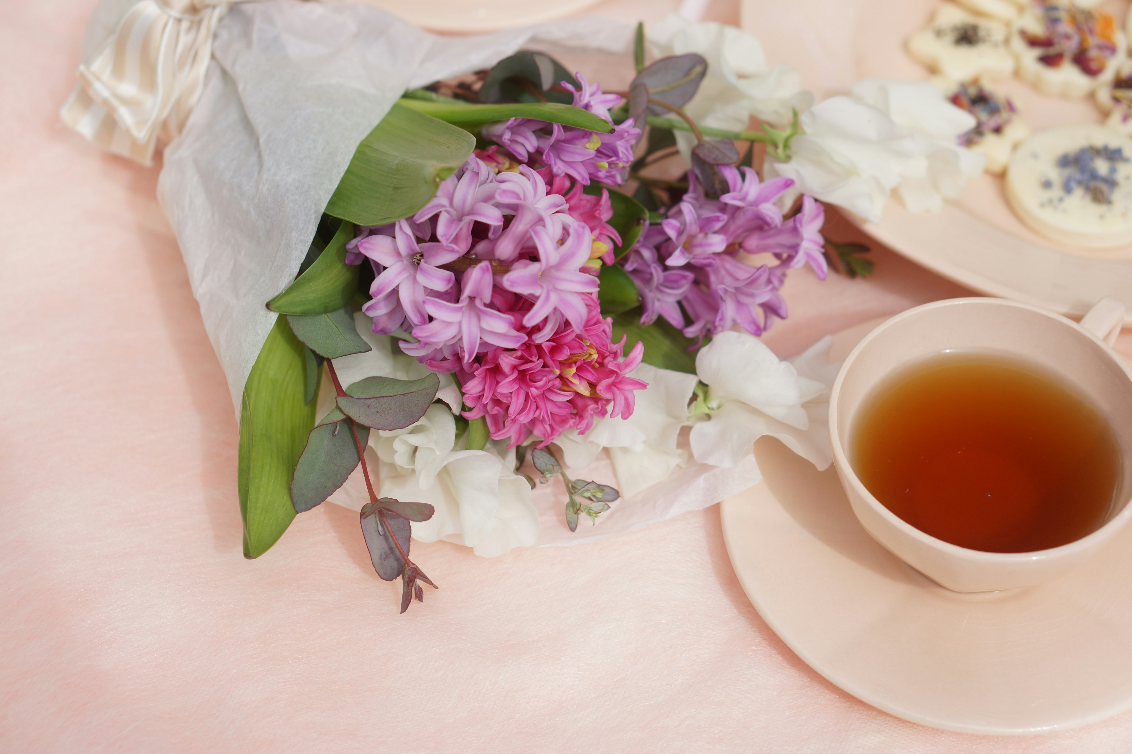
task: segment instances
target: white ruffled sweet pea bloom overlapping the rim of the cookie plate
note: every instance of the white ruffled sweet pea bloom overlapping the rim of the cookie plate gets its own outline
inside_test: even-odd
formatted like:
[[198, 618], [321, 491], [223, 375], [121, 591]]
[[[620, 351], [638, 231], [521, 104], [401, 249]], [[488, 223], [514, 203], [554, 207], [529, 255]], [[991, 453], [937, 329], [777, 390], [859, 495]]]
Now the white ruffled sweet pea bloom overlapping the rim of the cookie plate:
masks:
[[852, 96], [830, 97], [804, 113], [800, 125], [790, 161], [769, 161], [769, 173], [873, 223], [892, 190], [912, 211], [937, 211], [986, 162], [957, 141], [975, 118], [927, 83], [864, 79]]

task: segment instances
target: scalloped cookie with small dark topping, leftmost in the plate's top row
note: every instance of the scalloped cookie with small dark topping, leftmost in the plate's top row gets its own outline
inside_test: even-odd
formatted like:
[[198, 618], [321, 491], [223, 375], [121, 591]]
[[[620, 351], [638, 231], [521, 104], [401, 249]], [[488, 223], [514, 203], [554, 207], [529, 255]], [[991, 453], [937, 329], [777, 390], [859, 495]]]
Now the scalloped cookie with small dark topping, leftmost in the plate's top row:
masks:
[[932, 24], [908, 40], [912, 58], [955, 81], [978, 76], [1010, 76], [1014, 58], [1006, 49], [1006, 25], [942, 3]]

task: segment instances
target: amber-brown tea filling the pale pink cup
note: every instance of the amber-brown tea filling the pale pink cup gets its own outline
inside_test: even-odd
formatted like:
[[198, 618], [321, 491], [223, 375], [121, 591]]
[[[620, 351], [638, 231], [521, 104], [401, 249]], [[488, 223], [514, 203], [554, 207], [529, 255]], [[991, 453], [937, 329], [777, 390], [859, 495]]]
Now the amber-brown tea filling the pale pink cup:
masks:
[[852, 468], [933, 537], [993, 553], [1057, 547], [1107, 519], [1122, 476], [1108, 422], [1040, 367], [949, 352], [863, 405]]

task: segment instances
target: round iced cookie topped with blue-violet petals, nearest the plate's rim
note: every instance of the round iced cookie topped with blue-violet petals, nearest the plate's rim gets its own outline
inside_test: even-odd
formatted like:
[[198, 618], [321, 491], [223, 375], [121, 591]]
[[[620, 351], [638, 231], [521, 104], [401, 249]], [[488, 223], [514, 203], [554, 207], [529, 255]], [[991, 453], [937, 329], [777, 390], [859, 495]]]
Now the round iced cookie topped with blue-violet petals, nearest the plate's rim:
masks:
[[1132, 138], [1104, 125], [1038, 131], [1014, 149], [1006, 199], [1037, 233], [1071, 246], [1132, 243]]

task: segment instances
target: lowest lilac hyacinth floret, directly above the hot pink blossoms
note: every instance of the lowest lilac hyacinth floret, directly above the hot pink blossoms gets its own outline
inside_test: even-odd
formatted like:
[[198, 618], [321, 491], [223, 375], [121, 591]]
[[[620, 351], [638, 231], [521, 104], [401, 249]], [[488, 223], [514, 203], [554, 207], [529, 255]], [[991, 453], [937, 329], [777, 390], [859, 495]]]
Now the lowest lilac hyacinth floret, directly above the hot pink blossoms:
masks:
[[464, 272], [460, 301], [426, 298], [424, 309], [432, 321], [413, 328], [418, 343], [402, 348], [417, 356], [436, 350], [444, 353], [445, 346], [458, 343], [461, 359], [469, 364], [477, 353], [488, 347], [517, 348], [523, 345], [526, 336], [515, 331], [512, 319], [490, 307], [492, 287], [491, 262], [480, 262]]

